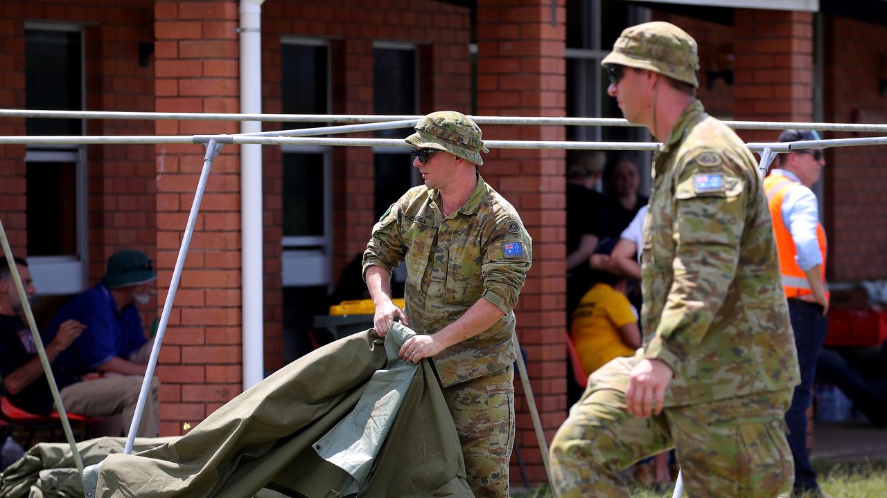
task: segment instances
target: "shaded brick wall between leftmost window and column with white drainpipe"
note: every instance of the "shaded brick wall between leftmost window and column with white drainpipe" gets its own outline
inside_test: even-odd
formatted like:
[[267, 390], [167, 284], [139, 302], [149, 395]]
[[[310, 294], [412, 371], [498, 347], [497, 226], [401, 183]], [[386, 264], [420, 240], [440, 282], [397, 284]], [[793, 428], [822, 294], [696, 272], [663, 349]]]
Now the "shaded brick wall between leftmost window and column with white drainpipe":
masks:
[[[131, 5], [98, 11], [97, 26], [84, 29], [86, 109], [154, 110], [153, 58], [139, 60], [139, 43], [153, 42], [153, 8]], [[70, 14], [70, 12], [69, 12]], [[85, 20], [81, 17], [72, 20]], [[93, 14], [98, 15], [98, 14]], [[86, 135], [153, 135], [153, 121], [88, 120]], [[156, 261], [157, 222], [153, 145], [89, 145], [89, 283], [105, 274], [106, 261], [137, 249]], [[145, 330], [156, 318], [156, 301], [142, 310]]]

